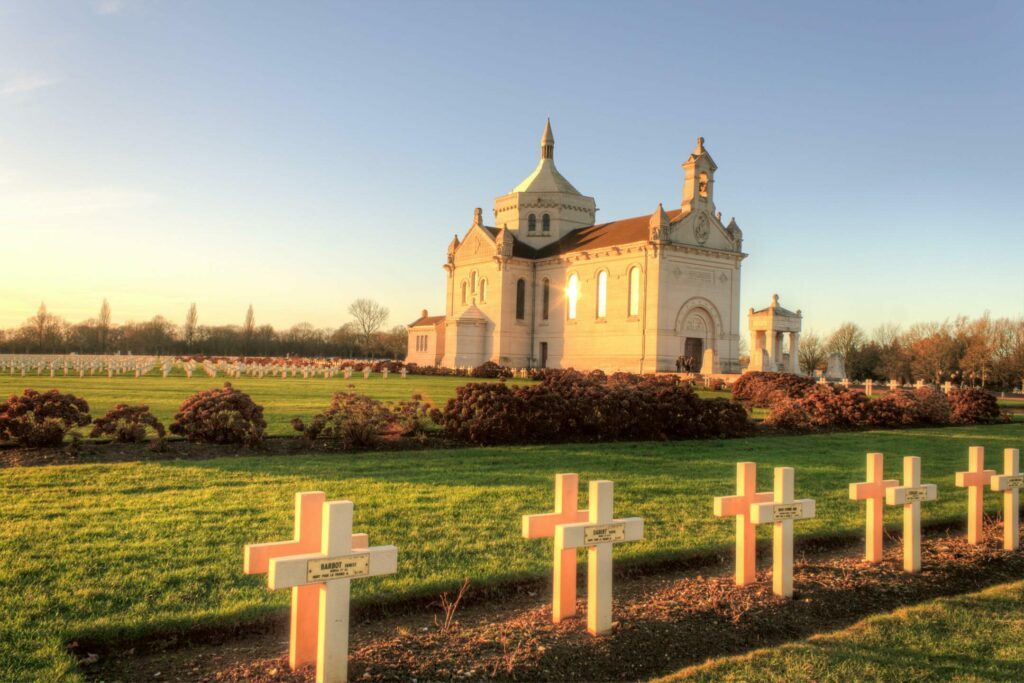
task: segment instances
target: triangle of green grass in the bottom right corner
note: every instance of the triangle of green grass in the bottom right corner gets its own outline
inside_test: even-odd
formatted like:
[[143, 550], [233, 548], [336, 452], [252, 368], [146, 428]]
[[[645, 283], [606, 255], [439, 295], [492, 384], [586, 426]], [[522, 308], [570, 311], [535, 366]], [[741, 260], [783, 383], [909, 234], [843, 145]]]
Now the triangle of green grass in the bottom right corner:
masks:
[[1024, 581], [713, 659], [660, 681], [1019, 681], [1022, 661]]

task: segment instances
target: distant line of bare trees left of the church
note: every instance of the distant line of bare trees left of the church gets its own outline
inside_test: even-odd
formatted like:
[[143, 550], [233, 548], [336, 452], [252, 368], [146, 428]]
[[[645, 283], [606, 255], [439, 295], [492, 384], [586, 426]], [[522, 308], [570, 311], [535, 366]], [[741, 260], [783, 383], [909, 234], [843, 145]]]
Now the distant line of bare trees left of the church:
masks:
[[388, 309], [371, 299], [348, 307], [350, 321], [339, 328], [299, 323], [287, 330], [259, 325], [252, 305], [242, 325], [202, 325], [193, 303], [180, 325], [163, 315], [115, 325], [105, 299], [95, 317], [69, 323], [42, 303], [36, 314], [0, 330], [2, 353], [134, 353], [139, 355], [269, 355], [403, 358], [408, 330], [386, 329]]

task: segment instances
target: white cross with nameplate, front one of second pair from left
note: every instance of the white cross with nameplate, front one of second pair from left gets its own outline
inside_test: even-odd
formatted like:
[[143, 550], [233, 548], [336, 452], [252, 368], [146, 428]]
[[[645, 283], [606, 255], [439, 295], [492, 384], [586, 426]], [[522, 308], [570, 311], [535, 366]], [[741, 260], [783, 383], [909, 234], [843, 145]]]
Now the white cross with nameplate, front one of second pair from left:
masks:
[[587, 631], [611, 632], [611, 546], [643, 539], [640, 517], [612, 518], [611, 481], [591, 481], [586, 522], [555, 526], [555, 555], [570, 548], [587, 549]]

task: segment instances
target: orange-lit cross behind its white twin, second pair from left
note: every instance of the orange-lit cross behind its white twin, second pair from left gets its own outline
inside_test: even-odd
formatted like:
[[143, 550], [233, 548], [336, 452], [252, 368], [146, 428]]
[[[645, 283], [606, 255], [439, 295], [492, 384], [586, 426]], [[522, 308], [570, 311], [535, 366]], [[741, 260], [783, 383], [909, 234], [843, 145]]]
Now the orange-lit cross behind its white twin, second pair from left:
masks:
[[[555, 538], [555, 526], [573, 524], [588, 519], [586, 510], [578, 510], [580, 475], [555, 475], [555, 511], [522, 516], [522, 538]], [[555, 573], [552, 583], [551, 621], [559, 624], [575, 613], [577, 551], [575, 548], [555, 548]]]

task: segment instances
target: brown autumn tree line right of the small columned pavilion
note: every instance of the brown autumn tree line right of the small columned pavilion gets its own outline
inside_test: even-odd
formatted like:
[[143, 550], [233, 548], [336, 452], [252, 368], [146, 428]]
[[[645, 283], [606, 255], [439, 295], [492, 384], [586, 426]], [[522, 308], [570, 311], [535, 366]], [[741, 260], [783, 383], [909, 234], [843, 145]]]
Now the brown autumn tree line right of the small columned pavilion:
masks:
[[868, 334], [844, 323], [831, 334], [806, 333], [800, 339], [800, 368], [825, 370], [828, 355], [845, 359], [854, 380], [919, 379], [941, 383], [1013, 389], [1024, 378], [1024, 319], [966, 316], [919, 323], [905, 330], [886, 324]]

